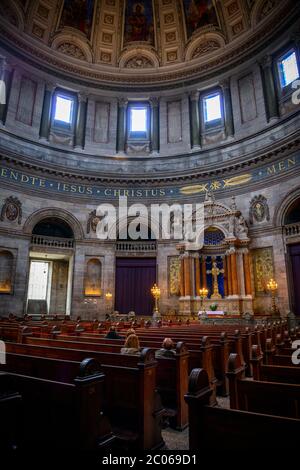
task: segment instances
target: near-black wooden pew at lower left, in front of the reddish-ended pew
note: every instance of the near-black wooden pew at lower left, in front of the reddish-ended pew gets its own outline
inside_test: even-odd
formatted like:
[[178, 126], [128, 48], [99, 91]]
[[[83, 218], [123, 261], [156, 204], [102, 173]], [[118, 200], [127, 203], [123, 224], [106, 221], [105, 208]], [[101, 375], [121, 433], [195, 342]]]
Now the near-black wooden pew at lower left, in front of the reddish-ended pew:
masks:
[[[20, 449], [97, 451], [111, 449], [115, 440], [104, 410], [104, 374], [100, 365], [93, 359], [70, 365], [75, 375], [66, 372], [66, 364], [56, 363], [57, 376], [61, 380], [44, 378], [44, 358], [20, 357], [7, 354], [7, 364], [1, 369], [5, 374], [5, 384], [1, 386], [17, 390], [22, 396], [22, 437]], [[27, 365], [26, 365], [27, 362]], [[63, 361], [64, 362], [64, 361]], [[34, 375], [21, 373], [30, 370]], [[62, 369], [63, 371], [62, 371]], [[15, 370], [19, 373], [16, 373]], [[64, 372], [64, 373], [62, 373]], [[66, 373], [66, 379], [63, 378]], [[50, 376], [55, 375], [52, 366]]]

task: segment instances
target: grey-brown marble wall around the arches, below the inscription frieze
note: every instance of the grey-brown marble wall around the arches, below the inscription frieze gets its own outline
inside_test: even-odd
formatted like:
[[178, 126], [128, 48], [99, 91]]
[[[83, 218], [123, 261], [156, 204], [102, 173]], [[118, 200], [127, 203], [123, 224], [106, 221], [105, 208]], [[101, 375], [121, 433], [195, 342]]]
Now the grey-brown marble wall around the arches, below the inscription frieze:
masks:
[[[281, 223], [277, 220], [277, 214], [280, 212], [280, 207], [284, 206], [291, 197], [291, 190], [292, 194], [297, 191], [300, 194], [300, 181], [297, 175], [291, 176], [288, 180], [274, 181], [274, 184], [267, 188], [236, 194], [237, 209], [242, 212], [249, 226], [250, 253], [254, 255], [258, 249], [272, 250], [273, 272], [278, 282], [278, 305], [283, 315], [287, 314], [290, 309], [287, 277], [288, 261], [286, 258], [286, 240]], [[254, 196], [259, 194], [263, 194], [267, 198], [270, 220], [265, 219], [251, 225], [249, 222], [250, 202]], [[0, 204], [10, 195], [11, 190], [9, 188], [1, 188]], [[0, 221], [0, 248], [11, 250], [15, 258], [13, 291], [11, 294], [0, 294], [0, 313], [12, 312], [21, 315], [24, 312], [28, 288], [29, 252], [39, 249], [31, 245], [31, 235], [28, 233], [28, 227], [29, 225], [32, 226], [35, 220], [38, 221], [41, 214], [50, 211], [52, 215], [55, 214], [57, 217], [67, 220], [76, 234], [74, 249], [67, 250], [67, 253], [72, 256], [70, 269], [73, 273], [70, 311], [75, 316], [81, 315], [85, 318], [97, 316], [102, 318], [105, 312], [113, 309], [115, 262], [116, 256], [120, 253], [116, 251], [114, 241], [101, 241], [97, 239], [93, 231], [87, 233], [88, 217], [91, 209], [96, 208], [96, 205], [86, 204], [86, 202], [80, 202], [80, 200], [72, 202], [70, 198], [68, 200], [54, 198], [50, 200], [33, 194], [29, 196], [17, 190], [14, 190], [14, 195], [22, 202], [22, 222], [18, 224], [17, 220], [9, 221], [7, 219]], [[226, 205], [230, 205], [232, 202], [231, 196], [223, 197], [218, 201]], [[157, 242], [157, 281], [161, 288], [160, 307], [163, 313], [178, 310], [179, 307], [178, 296], [174, 295], [174, 292], [170, 292], [170, 260], [178, 256], [176, 245], [177, 242], [172, 240], [158, 240]], [[48, 250], [45, 248], [44, 251], [49, 251], [51, 257], [53, 249]], [[64, 253], [64, 249], [57, 250], [57, 252]], [[124, 253], [122, 256], [124, 256]], [[137, 253], [127, 253], [125, 256], [139, 255]], [[91, 258], [101, 260], [102, 264], [101, 295], [93, 298], [86, 296], [84, 292], [86, 263]], [[254, 262], [253, 256], [252, 261]], [[255, 312], [269, 313], [271, 308], [270, 295], [267, 292], [255, 292], [254, 276], [255, 266], [253, 265], [252, 288]], [[106, 292], [113, 294], [111, 301], [106, 300]], [[58, 299], [59, 309], [64, 302], [62, 297]]]

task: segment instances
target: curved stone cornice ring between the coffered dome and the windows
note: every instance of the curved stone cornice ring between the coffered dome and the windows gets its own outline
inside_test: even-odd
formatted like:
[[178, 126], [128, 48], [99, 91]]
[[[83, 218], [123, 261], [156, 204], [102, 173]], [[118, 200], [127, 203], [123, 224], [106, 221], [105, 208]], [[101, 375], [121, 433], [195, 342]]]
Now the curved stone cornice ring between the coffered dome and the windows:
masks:
[[[293, 5], [293, 6], [292, 6]], [[223, 55], [217, 55], [215, 58], [207, 62], [197, 64], [185, 62], [180, 69], [171, 66], [162, 67], [155, 73], [152, 71], [143, 74], [126, 74], [124, 70], [120, 73], [117, 68], [108, 67], [104, 71], [89, 68], [87, 63], [79, 64], [79, 61], [71, 62], [67, 58], [65, 60], [53, 55], [51, 49], [33, 47], [23, 36], [20, 39], [19, 31], [12, 31], [11, 27], [5, 22], [0, 23], [0, 35], [2, 46], [10, 51], [13, 55], [19, 56], [29, 65], [44, 70], [64, 80], [80, 83], [83, 86], [91, 86], [95, 84], [97, 87], [101, 83], [102, 89], [116, 90], [128, 89], [132, 87], [137, 90], [141, 89], [160, 89], [174, 88], [176, 86], [182, 88], [184, 85], [193, 85], [199, 80], [206, 80], [215, 77], [216, 70], [218, 74], [232, 71], [235, 66], [242, 64], [260, 54], [264, 45], [271, 44], [281, 34], [286, 33], [287, 28], [293, 24], [299, 16], [300, 5], [297, 2], [288, 2], [287, 5], [279, 11], [277, 15], [272, 17], [272, 21], [258, 27], [252, 36], [234, 49], [231, 44], [225, 48]], [[203, 60], [203, 58], [201, 58]], [[95, 65], [95, 64], [93, 64]]]

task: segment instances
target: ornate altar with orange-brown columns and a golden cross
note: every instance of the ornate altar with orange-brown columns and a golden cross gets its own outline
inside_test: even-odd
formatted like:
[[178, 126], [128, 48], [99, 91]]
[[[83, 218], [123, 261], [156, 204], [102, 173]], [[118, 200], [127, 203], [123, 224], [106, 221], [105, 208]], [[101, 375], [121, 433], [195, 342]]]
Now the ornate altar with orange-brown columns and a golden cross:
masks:
[[228, 207], [207, 193], [202, 238], [198, 246], [177, 245], [181, 260], [179, 314], [196, 317], [205, 311], [210, 318], [252, 315], [250, 239], [234, 197]]

